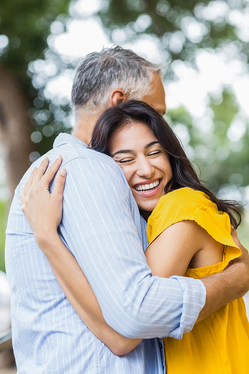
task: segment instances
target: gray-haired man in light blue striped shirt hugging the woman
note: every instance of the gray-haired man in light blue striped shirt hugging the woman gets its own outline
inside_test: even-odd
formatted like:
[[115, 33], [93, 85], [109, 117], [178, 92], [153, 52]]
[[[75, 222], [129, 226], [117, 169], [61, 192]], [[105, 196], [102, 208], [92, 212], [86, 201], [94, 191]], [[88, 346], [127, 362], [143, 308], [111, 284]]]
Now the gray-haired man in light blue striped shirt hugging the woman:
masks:
[[[165, 373], [162, 342], [154, 337], [181, 338], [197, 318], [249, 288], [248, 259], [203, 282], [151, 276], [143, 255], [145, 222], [124, 175], [111, 158], [86, 146], [99, 113], [134, 98], [164, 114], [158, 66], [120, 47], [89, 54], [73, 83], [73, 137], [60, 134], [47, 156], [51, 161], [58, 154], [63, 157], [67, 183], [59, 231], [87, 276], [105, 320], [128, 338], [145, 339], [118, 357], [79, 319], [21, 211], [19, 194], [28, 171], [16, 189], [6, 231], [13, 348], [20, 374]], [[239, 284], [240, 276], [244, 279]]]

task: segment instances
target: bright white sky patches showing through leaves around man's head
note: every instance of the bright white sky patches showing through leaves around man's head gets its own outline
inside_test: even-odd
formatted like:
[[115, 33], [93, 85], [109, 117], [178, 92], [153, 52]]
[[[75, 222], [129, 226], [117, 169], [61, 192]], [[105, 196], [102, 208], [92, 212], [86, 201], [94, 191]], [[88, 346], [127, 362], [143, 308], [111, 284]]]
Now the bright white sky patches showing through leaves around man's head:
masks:
[[[78, 59], [103, 46], [111, 46], [108, 36], [102, 27], [101, 21], [94, 14], [105, 5], [101, 0], [78, 0], [72, 3], [70, 13], [72, 18], [67, 23], [67, 31], [58, 35], [60, 25], [58, 21], [51, 26], [52, 34], [48, 39], [50, 47], [62, 56]], [[224, 16], [238, 26], [238, 33], [243, 34], [244, 40], [249, 40], [249, 13], [242, 14], [232, 10], [225, 1], [211, 1], [208, 6], [201, 4], [196, 12], [206, 19], [219, 22]], [[150, 23], [149, 16], [141, 14], [135, 22], [137, 29], [146, 29]], [[55, 24], [55, 25], [54, 25]], [[206, 32], [202, 23], [194, 17], [184, 17], [182, 29], [186, 37], [195, 41]], [[152, 62], [164, 63], [163, 54], [156, 38], [151, 35], [141, 35], [133, 43], [125, 43], [125, 32], [122, 29], [113, 32], [113, 39], [126, 48], [133, 49], [136, 53]], [[196, 40], [198, 41], [198, 40]], [[182, 34], [179, 32], [171, 40], [173, 48], [177, 49], [182, 44]], [[243, 113], [249, 116], [248, 87], [249, 73], [241, 61], [236, 43], [222, 49], [198, 50], [196, 56], [197, 70], [180, 60], [173, 62], [173, 71], [176, 81], [165, 83], [168, 108], [184, 105], [186, 109], [198, 118], [205, 114], [208, 104], [208, 94], [219, 100], [224, 86], [231, 86], [237, 97]], [[63, 72], [61, 77], [51, 79], [46, 87], [46, 97], [59, 100], [64, 97], [70, 99], [72, 72]]]

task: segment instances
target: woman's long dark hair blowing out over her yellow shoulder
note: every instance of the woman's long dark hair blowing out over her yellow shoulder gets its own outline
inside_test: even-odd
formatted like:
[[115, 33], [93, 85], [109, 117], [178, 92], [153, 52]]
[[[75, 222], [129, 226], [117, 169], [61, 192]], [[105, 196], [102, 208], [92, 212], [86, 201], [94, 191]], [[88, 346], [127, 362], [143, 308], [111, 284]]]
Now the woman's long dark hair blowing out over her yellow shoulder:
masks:
[[213, 192], [201, 184], [177, 136], [160, 114], [148, 104], [130, 100], [106, 109], [94, 127], [91, 148], [110, 156], [109, 141], [113, 133], [133, 122], [148, 126], [169, 155], [173, 176], [164, 188], [165, 193], [182, 187], [205, 192], [210, 200], [217, 204], [220, 211], [228, 213], [231, 224], [237, 228], [241, 223], [242, 206], [240, 203], [218, 199]]

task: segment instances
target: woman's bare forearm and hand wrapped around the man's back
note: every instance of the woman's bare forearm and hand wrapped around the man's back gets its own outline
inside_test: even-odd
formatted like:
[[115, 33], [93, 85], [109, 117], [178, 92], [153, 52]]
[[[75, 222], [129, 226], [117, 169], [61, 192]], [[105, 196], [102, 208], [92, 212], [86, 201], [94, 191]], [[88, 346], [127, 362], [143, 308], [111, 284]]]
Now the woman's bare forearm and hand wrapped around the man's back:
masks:
[[132, 351], [142, 339], [125, 338], [106, 323], [87, 278], [57, 232], [62, 216], [65, 169], [57, 173], [51, 194], [48, 185], [61, 161], [59, 157], [46, 173], [47, 158], [38, 169], [34, 168], [20, 195], [22, 210], [38, 246], [46, 255], [57, 281], [76, 313], [115, 355], [122, 356]]

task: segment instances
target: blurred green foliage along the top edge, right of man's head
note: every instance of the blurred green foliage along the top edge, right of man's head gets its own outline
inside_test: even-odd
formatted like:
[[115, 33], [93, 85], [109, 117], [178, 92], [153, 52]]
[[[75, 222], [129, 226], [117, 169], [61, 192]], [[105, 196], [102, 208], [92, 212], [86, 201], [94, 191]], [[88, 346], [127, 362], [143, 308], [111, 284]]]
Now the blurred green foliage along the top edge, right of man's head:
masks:
[[[110, 37], [117, 28], [126, 31], [127, 41], [134, 41], [144, 32], [158, 37], [162, 53], [164, 52], [165, 64], [168, 66], [167, 74], [170, 73], [172, 60], [180, 59], [194, 63], [197, 49], [217, 48], [231, 42], [237, 44], [238, 52], [243, 52], [248, 62], [248, 43], [239, 40], [235, 25], [228, 23], [226, 19], [226, 12], [223, 16], [216, 16], [214, 11], [212, 16], [206, 14], [207, 6], [213, 5], [214, 1], [210, 0], [110, 0], [109, 6], [101, 10], [99, 15], [109, 30]], [[230, 10], [244, 11], [248, 1], [223, 1], [223, 6]], [[141, 16], [146, 16], [146, 21], [144, 18], [142, 22]], [[202, 36], [189, 36], [186, 26], [190, 22], [198, 25], [202, 30]], [[177, 43], [172, 42], [172, 37], [178, 39]]]

